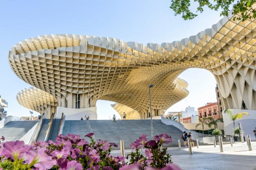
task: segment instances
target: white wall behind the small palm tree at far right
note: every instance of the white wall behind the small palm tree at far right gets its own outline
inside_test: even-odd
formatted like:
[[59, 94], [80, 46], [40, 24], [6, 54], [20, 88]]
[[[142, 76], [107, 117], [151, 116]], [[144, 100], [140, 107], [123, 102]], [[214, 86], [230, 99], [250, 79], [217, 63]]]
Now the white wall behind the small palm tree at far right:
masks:
[[[241, 122], [242, 129], [245, 135], [250, 135], [252, 140], [255, 140], [253, 130], [256, 127], [256, 110], [243, 110], [243, 109], [230, 109], [234, 114], [241, 113], [243, 111], [247, 112], [247, 116], [243, 116], [243, 119], [238, 119], [235, 121], [235, 127], [238, 126], [238, 123]], [[226, 135], [233, 134], [233, 122], [230, 120], [228, 114], [223, 115], [223, 124], [224, 124], [224, 132]]]

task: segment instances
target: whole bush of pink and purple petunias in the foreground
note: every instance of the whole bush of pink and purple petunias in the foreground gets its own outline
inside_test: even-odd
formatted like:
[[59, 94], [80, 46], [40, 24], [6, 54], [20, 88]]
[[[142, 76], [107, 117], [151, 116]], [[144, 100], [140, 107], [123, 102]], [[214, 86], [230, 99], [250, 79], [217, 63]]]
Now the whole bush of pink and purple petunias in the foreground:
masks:
[[[167, 134], [155, 136], [147, 141], [146, 135], [131, 144], [130, 161], [125, 157], [110, 155], [114, 143], [92, 138], [90, 143], [80, 135], [59, 135], [55, 142], [38, 142], [25, 145], [23, 141], [4, 141], [0, 138], [0, 170], [179, 170], [171, 163], [171, 157], [162, 149], [162, 144], [171, 142]], [[145, 156], [140, 149], [145, 147]]]

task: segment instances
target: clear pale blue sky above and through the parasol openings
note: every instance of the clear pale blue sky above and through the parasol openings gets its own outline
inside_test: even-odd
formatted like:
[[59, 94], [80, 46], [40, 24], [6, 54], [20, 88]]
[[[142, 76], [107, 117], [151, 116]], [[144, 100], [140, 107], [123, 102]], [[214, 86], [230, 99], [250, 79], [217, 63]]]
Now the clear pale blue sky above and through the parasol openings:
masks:
[[[0, 95], [9, 103], [8, 115], [29, 116], [29, 110], [18, 104], [16, 94], [31, 85], [16, 76], [8, 63], [11, 47], [29, 37], [44, 34], [81, 34], [114, 37], [147, 44], [181, 40], [210, 28], [221, 17], [206, 10], [197, 18], [184, 21], [174, 16], [170, 0], [15, 0], [0, 2]], [[215, 102], [214, 76], [203, 69], [188, 69], [180, 78], [188, 82], [190, 94], [168, 111], [186, 106], [203, 106]], [[114, 102], [98, 100], [99, 119], [116, 113]]]

